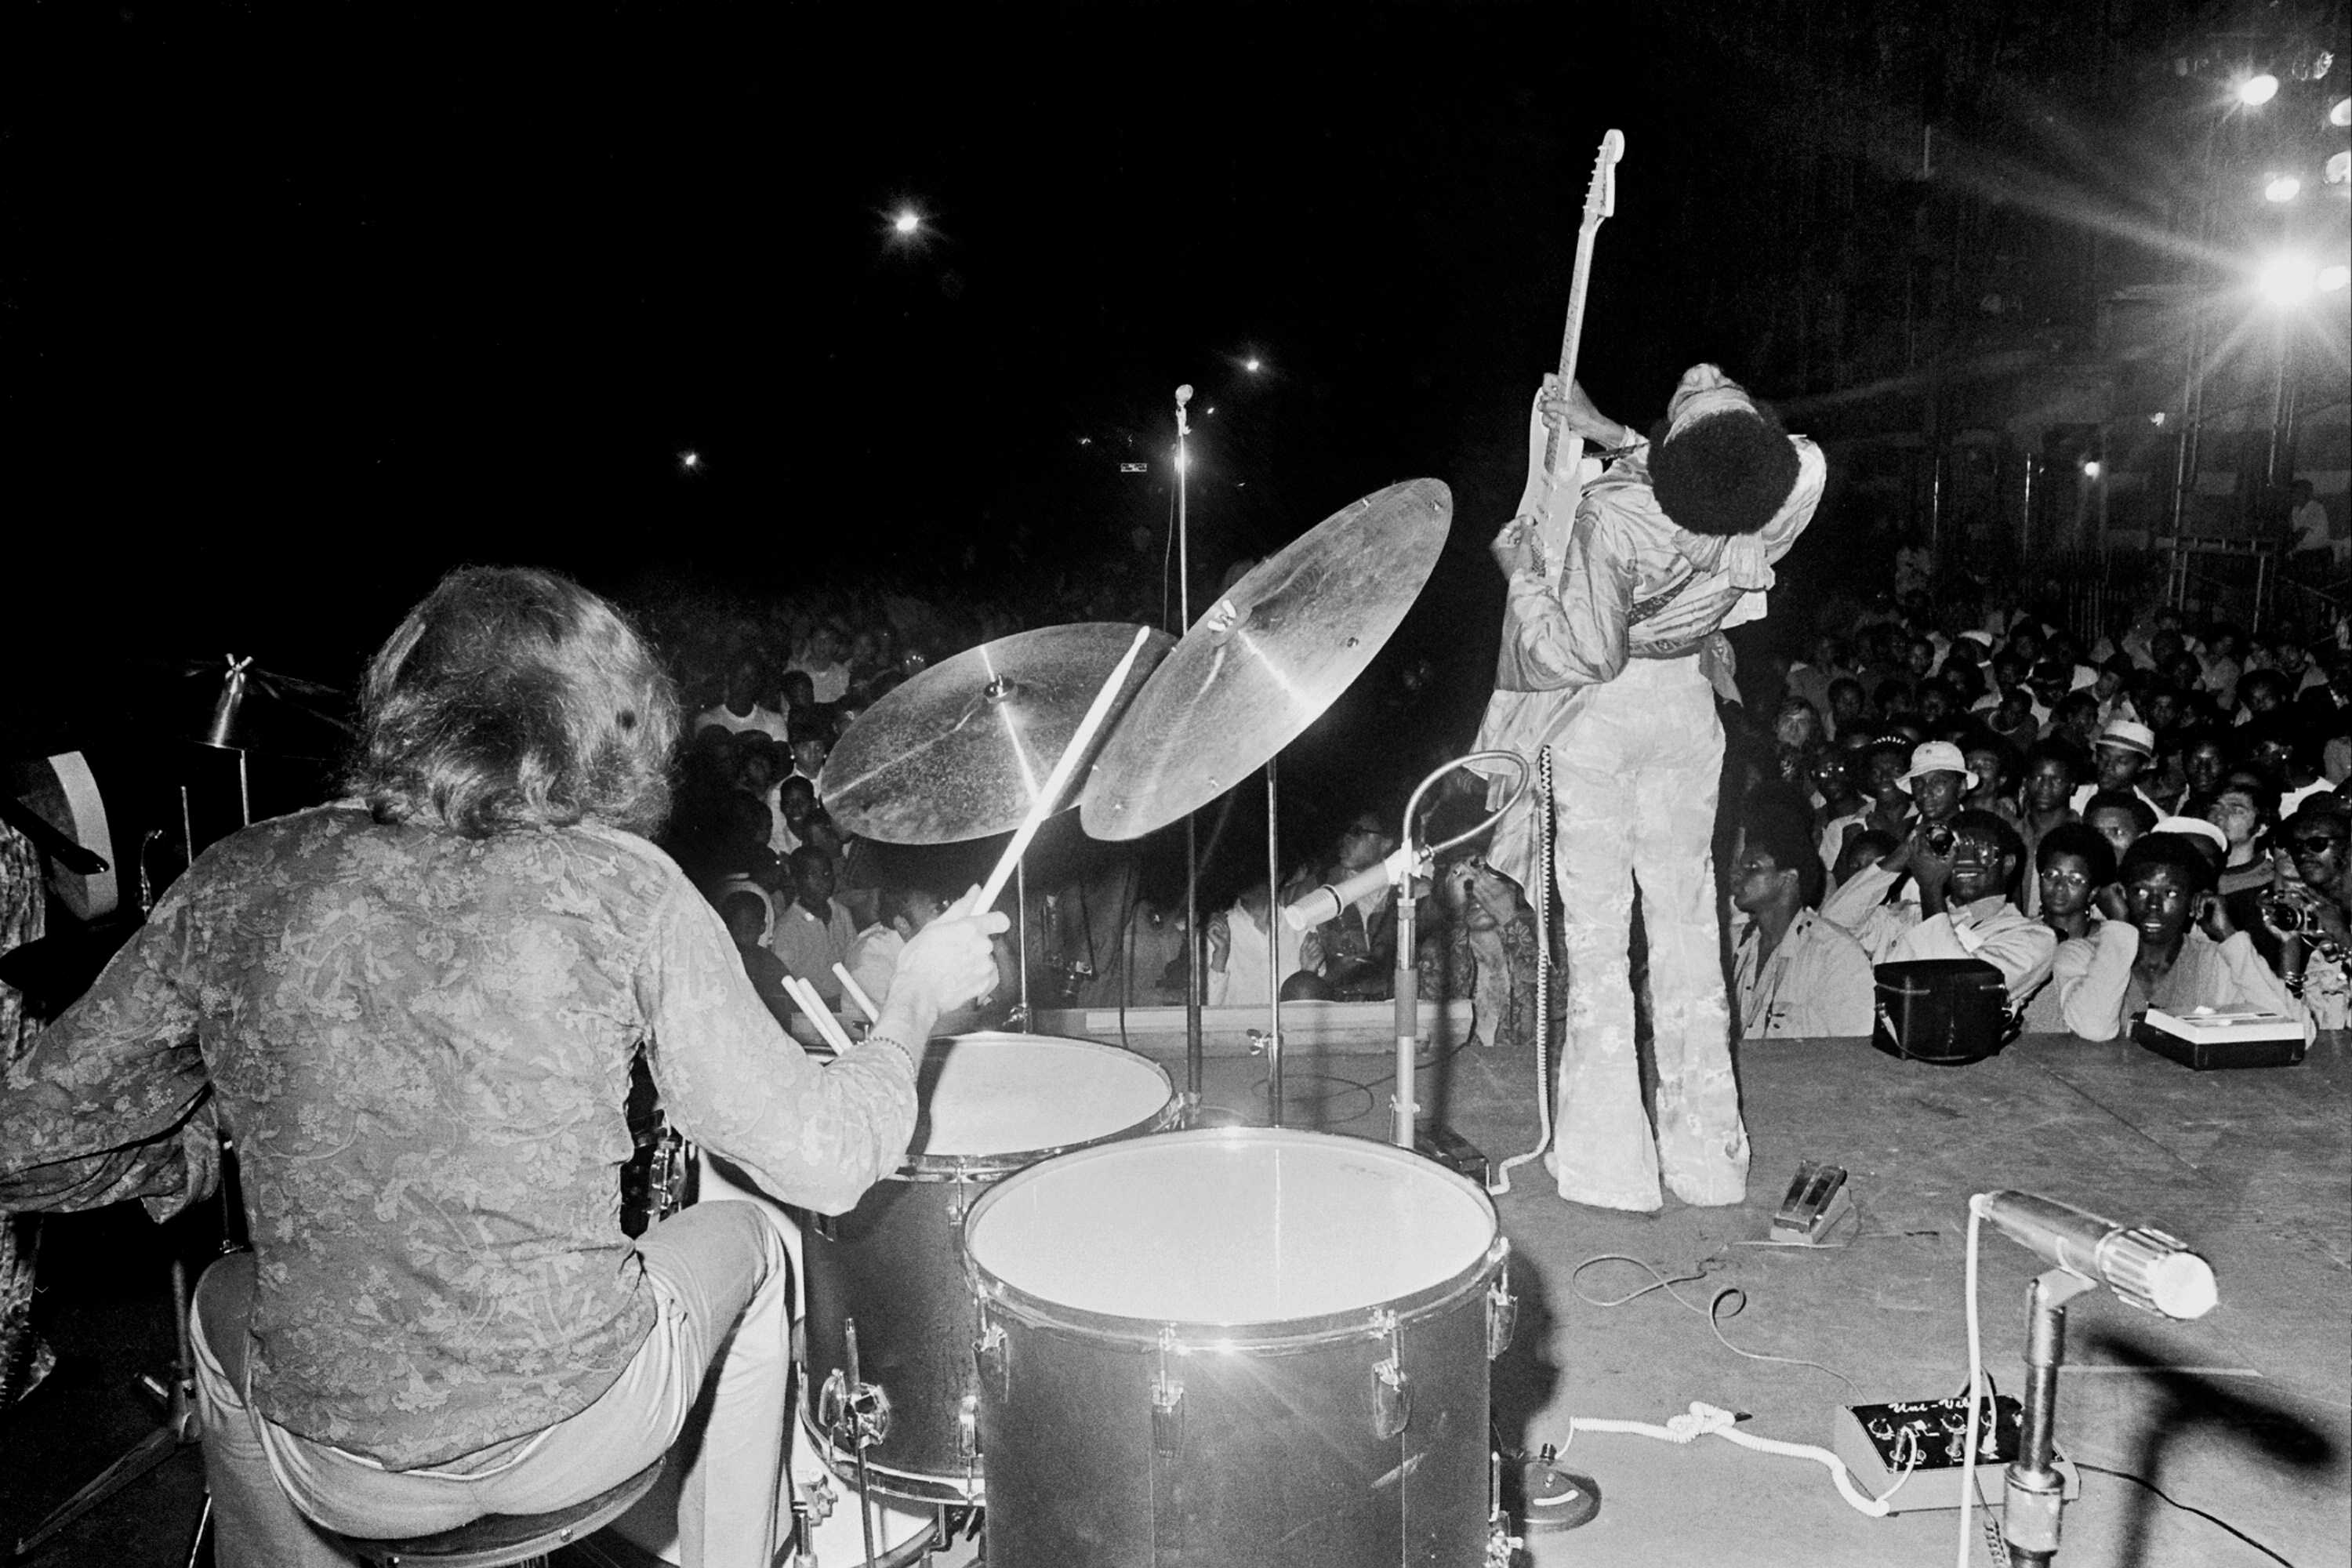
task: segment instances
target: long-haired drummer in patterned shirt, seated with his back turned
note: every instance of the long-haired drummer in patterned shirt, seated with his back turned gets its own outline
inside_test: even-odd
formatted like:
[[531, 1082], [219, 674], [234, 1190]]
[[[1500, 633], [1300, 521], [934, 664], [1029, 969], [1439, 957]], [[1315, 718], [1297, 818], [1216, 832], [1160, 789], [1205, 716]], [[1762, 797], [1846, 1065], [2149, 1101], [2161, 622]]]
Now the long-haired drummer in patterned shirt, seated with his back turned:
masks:
[[630, 1060], [687, 1138], [847, 1211], [903, 1159], [915, 1053], [993, 983], [1002, 917], [931, 922], [873, 1039], [818, 1065], [644, 837], [677, 731], [609, 604], [447, 576], [367, 668], [348, 797], [207, 849], [9, 1072], [0, 1211], [169, 1215], [238, 1133], [249, 1321], [214, 1288], [195, 1314], [219, 1561], [346, 1568], [318, 1526], [581, 1502], [689, 1415], [684, 1563], [774, 1559], [783, 1234], [762, 1204], [623, 1234]]

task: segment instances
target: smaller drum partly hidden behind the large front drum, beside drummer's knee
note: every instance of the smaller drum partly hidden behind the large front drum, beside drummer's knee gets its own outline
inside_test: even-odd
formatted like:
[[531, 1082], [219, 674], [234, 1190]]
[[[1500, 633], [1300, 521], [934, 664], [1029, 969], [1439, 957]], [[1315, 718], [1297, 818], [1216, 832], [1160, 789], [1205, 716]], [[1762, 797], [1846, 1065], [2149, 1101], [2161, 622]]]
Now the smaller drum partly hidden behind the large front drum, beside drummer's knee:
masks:
[[906, 1164], [849, 1213], [804, 1215], [807, 1415], [835, 1472], [854, 1474], [856, 1453], [830, 1434], [851, 1396], [854, 1326], [856, 1380], [889, 1408], [866, 1448], [870, 1483], [922, 1502], [978, 1502], [964, 1211], [1049, 1154], [1167, 1128], [1181, 1103], [1150, 1058], [1051, 1034], [934, 1039], [917, 1098]]

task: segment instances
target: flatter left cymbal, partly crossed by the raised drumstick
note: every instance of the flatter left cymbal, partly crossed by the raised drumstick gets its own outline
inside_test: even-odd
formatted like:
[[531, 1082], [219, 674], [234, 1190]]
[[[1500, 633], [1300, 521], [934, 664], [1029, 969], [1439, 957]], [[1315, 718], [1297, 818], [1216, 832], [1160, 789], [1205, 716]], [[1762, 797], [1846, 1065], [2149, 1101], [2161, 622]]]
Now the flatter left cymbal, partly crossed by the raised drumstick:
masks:
[[[931, 665], [868, 708], [826, 757], [826, 811], [882, 844], [1011, 832], [1134, 639], [1136, 628], [1117, 623], [1047, 625]], [[1167, 632], [1143, 644], [1103, 733], [1171, 646]]]

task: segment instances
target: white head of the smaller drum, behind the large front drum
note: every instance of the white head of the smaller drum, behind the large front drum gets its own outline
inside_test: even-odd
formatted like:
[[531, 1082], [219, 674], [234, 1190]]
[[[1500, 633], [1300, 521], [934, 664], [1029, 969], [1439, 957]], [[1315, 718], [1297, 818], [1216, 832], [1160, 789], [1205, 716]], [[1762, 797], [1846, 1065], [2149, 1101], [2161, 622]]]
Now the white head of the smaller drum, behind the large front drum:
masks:
[[922, 1053], [917, 1157], [1063, 1150], [1150, 1121], [1176, 1098], [1152, 1060], [1091, 1039], [948, 1034]]

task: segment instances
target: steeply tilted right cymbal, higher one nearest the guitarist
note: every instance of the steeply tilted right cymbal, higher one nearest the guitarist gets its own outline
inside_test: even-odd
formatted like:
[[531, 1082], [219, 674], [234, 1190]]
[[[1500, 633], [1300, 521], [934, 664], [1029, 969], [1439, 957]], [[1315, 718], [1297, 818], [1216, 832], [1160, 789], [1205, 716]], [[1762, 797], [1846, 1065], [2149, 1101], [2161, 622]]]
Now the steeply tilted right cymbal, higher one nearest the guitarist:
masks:
[[1087, 832], [1141, 839], [1289, 745], [1404, 621], [1451, 520], [1454, 494], [1411, 480], [1258, 562], [1112, 722], [1077, 797]]

